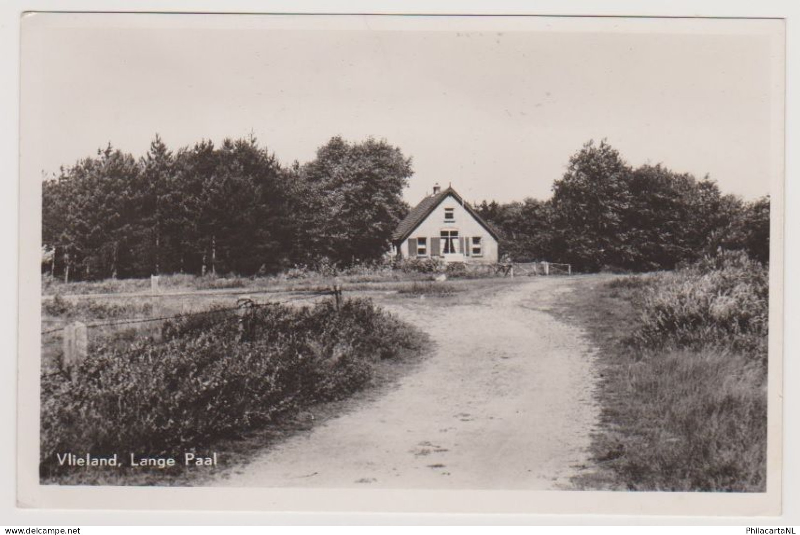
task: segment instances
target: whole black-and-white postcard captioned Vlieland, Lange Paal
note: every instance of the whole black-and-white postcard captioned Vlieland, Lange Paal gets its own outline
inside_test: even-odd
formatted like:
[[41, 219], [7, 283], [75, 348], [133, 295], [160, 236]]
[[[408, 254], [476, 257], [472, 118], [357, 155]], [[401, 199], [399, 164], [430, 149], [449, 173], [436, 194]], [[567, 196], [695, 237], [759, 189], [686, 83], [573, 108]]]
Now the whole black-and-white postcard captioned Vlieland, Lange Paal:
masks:
[[778, 512], [783, 32], [25, 14], [21, 503]]

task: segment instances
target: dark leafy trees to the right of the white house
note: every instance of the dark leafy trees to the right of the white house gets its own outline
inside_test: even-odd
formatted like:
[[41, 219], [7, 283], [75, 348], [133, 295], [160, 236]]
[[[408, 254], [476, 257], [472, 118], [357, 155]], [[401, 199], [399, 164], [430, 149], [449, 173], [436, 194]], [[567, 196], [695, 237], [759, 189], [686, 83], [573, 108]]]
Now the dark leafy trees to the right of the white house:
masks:
[[719, 250], [770, 256], [770, 198], [744, 202], [662, 165], [634, 168], [606, 141], [570, 158], [546, 201], [482, 202], [515, 261], [565, 262], [580, 271], [673, 269]]

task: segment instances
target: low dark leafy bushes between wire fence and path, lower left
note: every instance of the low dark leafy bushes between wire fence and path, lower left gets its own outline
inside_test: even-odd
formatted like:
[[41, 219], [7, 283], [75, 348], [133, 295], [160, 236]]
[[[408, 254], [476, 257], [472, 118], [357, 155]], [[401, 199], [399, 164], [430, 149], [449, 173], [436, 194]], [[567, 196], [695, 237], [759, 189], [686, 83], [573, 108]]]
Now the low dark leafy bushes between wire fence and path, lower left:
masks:
[[244, 317], [221, 311], [164, 325], [162, 343], [99, 346], [73, 380], [42, 377], [42, 477], [57, 454], [142, 456], [196, 451], [370, 381], [381, 359], [424, 336], [365, 299]]

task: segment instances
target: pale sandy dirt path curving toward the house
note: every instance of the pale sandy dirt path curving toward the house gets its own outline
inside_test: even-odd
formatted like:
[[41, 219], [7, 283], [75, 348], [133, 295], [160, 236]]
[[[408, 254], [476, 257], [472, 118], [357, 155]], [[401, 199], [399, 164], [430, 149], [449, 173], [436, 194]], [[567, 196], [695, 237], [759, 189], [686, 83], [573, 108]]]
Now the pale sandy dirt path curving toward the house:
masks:
[[598, 418], [582, 332], [544, 312], [578, 279], [538, 277], [453, 305], [387, 305], [434, 354], [384, 396], [276, 445], [213, 485], [553, 489]]

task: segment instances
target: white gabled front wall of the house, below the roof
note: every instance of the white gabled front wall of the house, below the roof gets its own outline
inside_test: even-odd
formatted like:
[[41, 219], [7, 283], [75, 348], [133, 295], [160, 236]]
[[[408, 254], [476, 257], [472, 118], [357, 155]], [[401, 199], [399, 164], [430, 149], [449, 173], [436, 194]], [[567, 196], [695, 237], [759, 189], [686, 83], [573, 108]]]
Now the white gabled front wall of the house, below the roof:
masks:
[[[452, 208], [454, 221], [445, 222], [445, 209]], [[482, 257], [468, 256], [464, 258], [452, 257], [450, 260], [463, 260], [463, 262], [495, 263], [498, 262], [498, 242], [491, 234], [467, 212], [461, 203], [452, 195], [448, 195], [439, 203], [433, 212], [417, 226], [409, 238], [428, 238], [427, 257], [430, 258], [430, 238], [438, 238], [442, 230], [458, 230], [459, 237], [473, 238], [479, 236], [483, 242]], [[418, 258], [416, 252], [409, 254], [408, 239], [402, 242], [400, 251], [403, 258]], [[441, 251], [440, 251], [441, 253]]]

